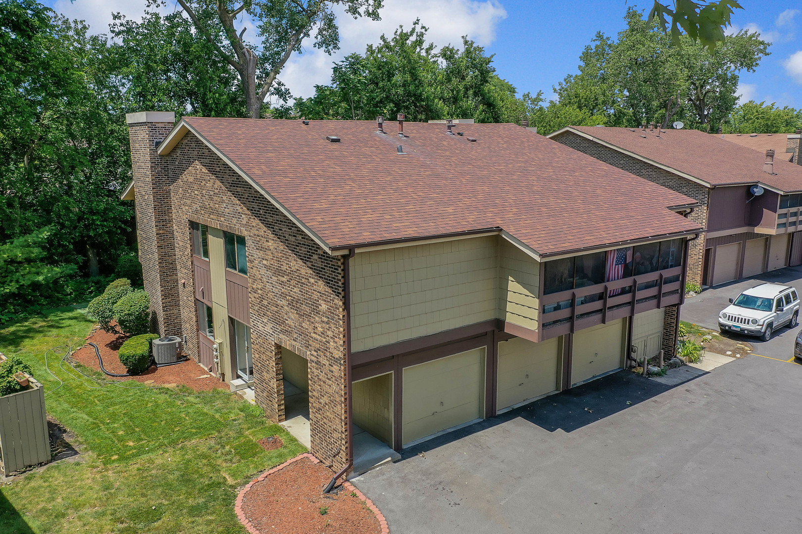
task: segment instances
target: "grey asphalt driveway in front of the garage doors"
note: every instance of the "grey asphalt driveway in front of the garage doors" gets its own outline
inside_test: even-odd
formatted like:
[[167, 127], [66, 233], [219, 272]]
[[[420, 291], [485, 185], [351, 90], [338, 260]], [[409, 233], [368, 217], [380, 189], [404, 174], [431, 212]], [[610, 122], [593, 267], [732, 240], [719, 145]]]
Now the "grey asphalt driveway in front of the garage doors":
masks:
[[[802, 270], [784, 271], [772, 276], [802, 289]], [[683, 320], [707, 326], [705, 309], [715, 321], [715, 299], [740, 285], [690, 299]], [[795, 334], [755, 351], [790, 354]], [[758, 356], [674, 387], [620, 371], [430, 440], [354, 483], [403, 534], [802, 532], [800, 385], [802, 366]]]

